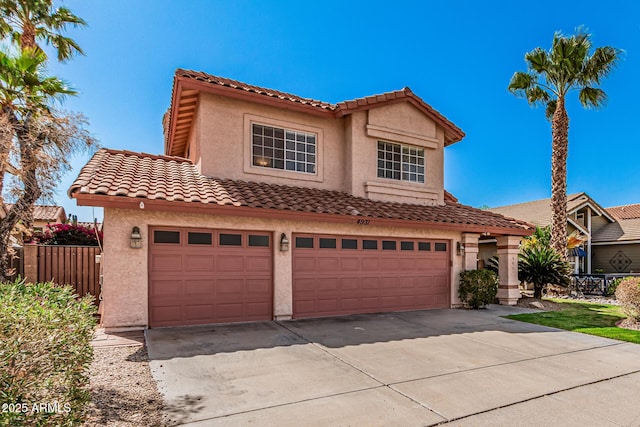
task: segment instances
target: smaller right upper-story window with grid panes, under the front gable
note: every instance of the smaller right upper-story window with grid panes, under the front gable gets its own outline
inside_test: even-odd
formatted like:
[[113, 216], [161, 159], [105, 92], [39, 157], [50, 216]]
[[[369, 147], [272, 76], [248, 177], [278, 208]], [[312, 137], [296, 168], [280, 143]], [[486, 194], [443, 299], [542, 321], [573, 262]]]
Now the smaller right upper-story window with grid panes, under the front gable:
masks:
[[424, 149], [378, 141], [378, 178], [424, 183]]

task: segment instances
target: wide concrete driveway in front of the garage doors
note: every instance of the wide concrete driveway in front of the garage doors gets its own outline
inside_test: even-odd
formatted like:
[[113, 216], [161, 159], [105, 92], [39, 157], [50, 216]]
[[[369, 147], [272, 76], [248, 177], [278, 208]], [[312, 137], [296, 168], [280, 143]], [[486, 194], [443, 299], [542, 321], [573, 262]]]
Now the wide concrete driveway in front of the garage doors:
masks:
[[151, 329], [172, 425], [638, 426], [640, 345], [429, 310]]

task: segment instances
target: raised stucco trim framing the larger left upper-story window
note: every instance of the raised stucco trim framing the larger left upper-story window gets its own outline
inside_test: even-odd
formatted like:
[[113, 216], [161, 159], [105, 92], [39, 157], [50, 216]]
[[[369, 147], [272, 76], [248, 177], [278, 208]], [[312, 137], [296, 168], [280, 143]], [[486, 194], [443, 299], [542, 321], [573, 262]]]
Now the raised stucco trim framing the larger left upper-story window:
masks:
[[[272, 126], [277, 128], [290, 129], [304, 133], [316, 135], [316, 170], [315, 173], [295, 172], [286, 169], [275, 169], [268, 167], [260, 167], [253, 165], [252, 151], [252, 126], [253, 124]], [[273, 176], [279, 178], [295, 179], [297, 181], [315, 181], [322, 182], [324, 180], [324, 132], [321, 128], [301, 125], [299, 123], [287, 122], [284, 120], [273, 119], [270, 117], [258, 116], [254, 114], [244, 115], [244, 152], [243, 152], [243, 170], [248, 174]]]

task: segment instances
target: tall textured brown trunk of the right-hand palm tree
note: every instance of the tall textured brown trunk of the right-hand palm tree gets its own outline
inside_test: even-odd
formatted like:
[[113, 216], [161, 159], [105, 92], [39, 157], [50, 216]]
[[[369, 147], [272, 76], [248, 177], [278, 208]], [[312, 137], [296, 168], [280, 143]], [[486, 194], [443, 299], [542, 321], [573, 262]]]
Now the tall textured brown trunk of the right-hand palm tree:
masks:
[[551, 120], [551, 247], [567, 260], [567, 156], [569, 154], [569, 116], [564, 97], [558, 97]]

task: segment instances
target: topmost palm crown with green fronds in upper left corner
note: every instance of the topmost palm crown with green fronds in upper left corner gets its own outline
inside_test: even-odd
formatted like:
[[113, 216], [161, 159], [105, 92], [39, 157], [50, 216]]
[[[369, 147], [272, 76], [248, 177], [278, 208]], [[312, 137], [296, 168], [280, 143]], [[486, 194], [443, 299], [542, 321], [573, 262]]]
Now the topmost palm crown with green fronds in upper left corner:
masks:
[[22, 51], [41, 50], [38, 41], [53, 46], [58, 61], [84, 52], [62, 33], [67, 25], [83, 27], [87, 23], [68, 8], [54, 10], [53, 0], [0, 0], [0, 37], [9, 37]]

